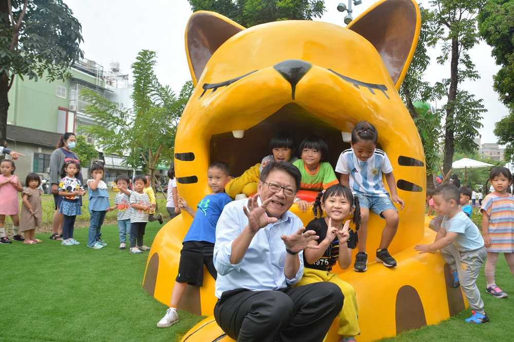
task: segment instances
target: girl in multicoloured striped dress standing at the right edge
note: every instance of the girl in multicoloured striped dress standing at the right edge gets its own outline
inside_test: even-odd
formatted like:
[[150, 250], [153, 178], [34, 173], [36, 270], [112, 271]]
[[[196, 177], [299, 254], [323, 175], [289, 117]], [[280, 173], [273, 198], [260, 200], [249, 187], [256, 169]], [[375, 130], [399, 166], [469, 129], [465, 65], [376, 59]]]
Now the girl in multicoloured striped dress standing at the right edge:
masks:
[[482, 212], [482, 233], [487, 248], [485, 264], [486, 291], [497, 298], [507, 297], [494, 281], [494, 271], [498, 255], [503, 253], [514, 274], [514, 197], [508, 193], [512, 185], [509, 169], [494, 167], [489, 173], [494, 191], [485, 196]]

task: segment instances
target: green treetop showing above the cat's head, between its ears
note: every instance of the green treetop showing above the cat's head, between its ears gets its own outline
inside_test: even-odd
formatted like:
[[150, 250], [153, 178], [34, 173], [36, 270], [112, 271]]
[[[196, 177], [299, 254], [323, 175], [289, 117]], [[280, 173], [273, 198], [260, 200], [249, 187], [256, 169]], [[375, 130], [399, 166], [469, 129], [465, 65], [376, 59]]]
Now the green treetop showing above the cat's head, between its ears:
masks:
[[319, 18], [323, 0], [189, 0], [193, 11], [223, 14], [245, 27], [279, 20]]

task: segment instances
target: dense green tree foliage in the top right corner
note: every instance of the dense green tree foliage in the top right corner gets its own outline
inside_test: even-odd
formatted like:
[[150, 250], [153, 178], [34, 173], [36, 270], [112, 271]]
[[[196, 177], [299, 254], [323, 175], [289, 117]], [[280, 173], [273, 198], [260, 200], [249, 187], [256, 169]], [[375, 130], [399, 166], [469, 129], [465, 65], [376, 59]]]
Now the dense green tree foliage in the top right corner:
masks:
[[[492, 47], [501, 68], [494, 75], [494, 90], [514, 110], [514, 1], [489, 0], [477, 16], [482, 38]], [[512, 139], [511, 139], [512, 140]]]

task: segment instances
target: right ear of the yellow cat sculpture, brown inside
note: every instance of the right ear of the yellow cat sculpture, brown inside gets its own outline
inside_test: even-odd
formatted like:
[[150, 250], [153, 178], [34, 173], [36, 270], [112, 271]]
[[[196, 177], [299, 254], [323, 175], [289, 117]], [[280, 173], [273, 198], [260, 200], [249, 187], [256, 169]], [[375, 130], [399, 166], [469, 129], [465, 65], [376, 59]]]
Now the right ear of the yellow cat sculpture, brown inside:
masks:
[[373, 44], [398, 90], [416, 50], [421, 14], [413, 0], [384, 0], [357, 17], [348, 29]]

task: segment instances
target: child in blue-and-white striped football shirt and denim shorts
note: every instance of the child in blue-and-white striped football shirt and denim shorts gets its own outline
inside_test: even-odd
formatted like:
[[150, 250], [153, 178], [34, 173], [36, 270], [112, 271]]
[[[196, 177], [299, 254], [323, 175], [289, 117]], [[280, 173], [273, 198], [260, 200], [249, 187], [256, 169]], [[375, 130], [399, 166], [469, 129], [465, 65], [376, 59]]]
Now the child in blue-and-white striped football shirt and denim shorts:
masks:
[[[404, 204], [396, 193], [396, 180], [391, 162], [386, 152], [377, 149], [377, 142], [378, 132], [372, 124], [367, 121], [357, 123], [352, 130], [352, 148], [341, 153], [336, 165], [336, 172], [341, 174], [341, 185], [350, 188], [360, 203], [359, 252], [355, 256], [354, 264], [354, 270], [357, 272], [368, 269], [366, 235], [370, 210], [386, 219], [376, 260], [387, 267], [396, 266], [396, 260], [387, 250], [398, 229], [398, 211], [391, 200], [400, 204], [401, 209]], [[382, 173], [391, 190], [391, 198], [384, 188]]]

